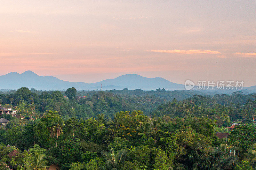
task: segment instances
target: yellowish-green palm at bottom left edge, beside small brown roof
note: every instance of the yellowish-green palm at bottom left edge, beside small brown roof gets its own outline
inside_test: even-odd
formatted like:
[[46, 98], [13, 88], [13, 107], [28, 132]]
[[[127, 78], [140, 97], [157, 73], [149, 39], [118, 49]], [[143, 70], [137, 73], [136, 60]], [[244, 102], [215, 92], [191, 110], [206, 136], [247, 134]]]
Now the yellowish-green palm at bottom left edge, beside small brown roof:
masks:
[[44, 160], [43, 154], [35, 152], [34, 157], [29, 159], [30, 159], [29, 165], [26, 164], [26, 167], [28, 170], [43, 170], [49, 167], [49, 166], [45, 166], [47, 161]]

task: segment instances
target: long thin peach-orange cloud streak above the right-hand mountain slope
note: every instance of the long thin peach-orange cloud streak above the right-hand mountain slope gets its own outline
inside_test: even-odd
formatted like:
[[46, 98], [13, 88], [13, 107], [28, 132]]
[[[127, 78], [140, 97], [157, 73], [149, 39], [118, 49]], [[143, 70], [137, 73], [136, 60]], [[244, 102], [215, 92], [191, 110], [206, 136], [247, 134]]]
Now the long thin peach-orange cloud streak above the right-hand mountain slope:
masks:
[[174, 49], [174, 50], [151, 50], [151, 52], [157, 52], [157, 53], [177, 53], [177, 54], [220, 54], [219, 51], [212, 51], [212, 50], [180, 50], [180, 49]]

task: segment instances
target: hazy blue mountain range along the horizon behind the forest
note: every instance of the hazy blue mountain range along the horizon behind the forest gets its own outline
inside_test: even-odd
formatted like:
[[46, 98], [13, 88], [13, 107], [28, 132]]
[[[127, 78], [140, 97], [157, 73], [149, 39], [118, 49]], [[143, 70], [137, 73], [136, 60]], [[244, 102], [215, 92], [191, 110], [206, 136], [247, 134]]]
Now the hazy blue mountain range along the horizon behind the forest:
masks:
[[117, 78], [106, 79], [97, 83], [69, 82], [53, 76], [39, 76], [33, 71], [24, 73], [11, 72], [0, 76], [0, 89], [18, 89], [20, 87], [36, 88], [39, 90], [66, 90], [75, 87], [77, 90], [131, 90], [140, 88], [143, 90], [184, 90], [184, 85], [172, 83], [164, 78], [146, 78], [138, 74], [125, 74]]

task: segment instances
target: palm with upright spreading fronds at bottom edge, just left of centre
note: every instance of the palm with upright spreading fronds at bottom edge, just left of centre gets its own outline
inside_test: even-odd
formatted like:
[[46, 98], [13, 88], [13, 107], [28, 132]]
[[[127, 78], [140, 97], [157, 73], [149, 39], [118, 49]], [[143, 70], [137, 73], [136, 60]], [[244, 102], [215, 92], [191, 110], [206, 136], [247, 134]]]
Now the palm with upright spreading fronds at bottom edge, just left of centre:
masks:
[[124, 162], [127, 156], [127, 149], [122, 149], [119, 152], [115, 153], [113, 148], [107, 151], [101, 152], [101, 155], [106, 159], [106, 164], [108, 169], [121, 169], [121, 164]]

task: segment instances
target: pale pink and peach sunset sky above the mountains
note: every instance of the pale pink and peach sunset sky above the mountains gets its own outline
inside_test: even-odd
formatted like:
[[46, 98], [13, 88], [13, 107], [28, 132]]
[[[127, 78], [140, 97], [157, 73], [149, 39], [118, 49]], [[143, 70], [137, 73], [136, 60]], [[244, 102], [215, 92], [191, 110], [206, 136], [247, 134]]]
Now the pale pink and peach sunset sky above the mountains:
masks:
[[0, 75], [256, 85], [256, 1], [0, 0]]

